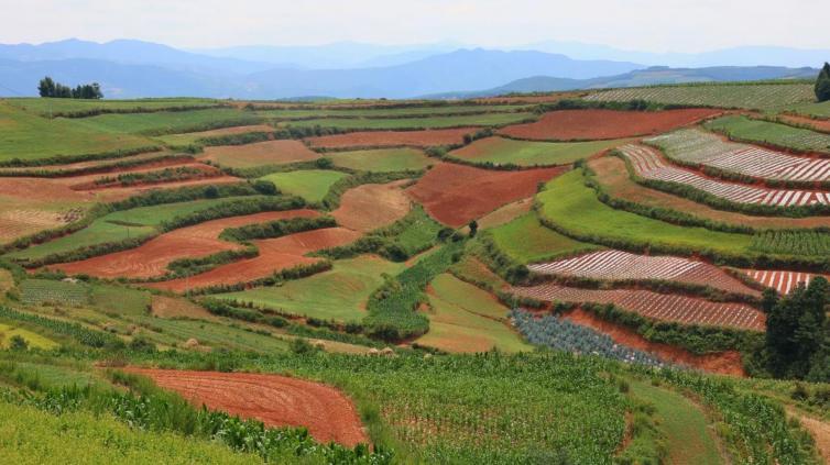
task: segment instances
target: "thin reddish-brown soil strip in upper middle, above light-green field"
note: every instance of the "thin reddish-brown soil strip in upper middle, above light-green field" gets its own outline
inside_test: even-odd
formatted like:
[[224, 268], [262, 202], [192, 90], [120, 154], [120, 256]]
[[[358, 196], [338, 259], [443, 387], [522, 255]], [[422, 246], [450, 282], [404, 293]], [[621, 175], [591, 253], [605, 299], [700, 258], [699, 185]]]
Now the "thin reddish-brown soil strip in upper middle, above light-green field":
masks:
[[465, 134], [476, 132], [478, 128], [460, 128], [426, 131], [367, 131], [348, 134], [309, 137], [313, 147], [428, 147], [433, 145], [454, 145], [463, 142]]

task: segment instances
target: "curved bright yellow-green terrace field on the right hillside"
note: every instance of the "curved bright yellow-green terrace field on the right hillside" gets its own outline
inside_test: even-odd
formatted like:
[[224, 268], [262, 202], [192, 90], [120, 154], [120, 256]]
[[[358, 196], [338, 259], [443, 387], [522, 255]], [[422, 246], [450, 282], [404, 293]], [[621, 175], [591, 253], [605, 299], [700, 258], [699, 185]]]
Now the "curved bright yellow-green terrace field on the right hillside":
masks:
[[745, 254], [753, 241], [747, 234], [682, 228], [627, 211], [614, 210], [600, 202], [593, 189], [585, 186], [579, 170], [548, 182], [537, 199], [542, 206], [539, 213], [543, 218], [569, 234], [596, 237], [598, 242]]

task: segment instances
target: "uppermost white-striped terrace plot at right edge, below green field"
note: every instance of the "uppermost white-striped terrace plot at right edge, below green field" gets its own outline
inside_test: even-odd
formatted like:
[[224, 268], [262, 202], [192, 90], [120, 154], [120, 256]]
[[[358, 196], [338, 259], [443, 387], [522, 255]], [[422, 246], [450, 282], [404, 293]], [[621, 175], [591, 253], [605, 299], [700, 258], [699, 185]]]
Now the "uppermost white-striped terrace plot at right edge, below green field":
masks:
[[645, 141], [671, 159], [694, 163], [756, 178], [830, 180], [830, 159], [805, 158], [749, 144], [725, 142], [701, 130], [680, 130]]

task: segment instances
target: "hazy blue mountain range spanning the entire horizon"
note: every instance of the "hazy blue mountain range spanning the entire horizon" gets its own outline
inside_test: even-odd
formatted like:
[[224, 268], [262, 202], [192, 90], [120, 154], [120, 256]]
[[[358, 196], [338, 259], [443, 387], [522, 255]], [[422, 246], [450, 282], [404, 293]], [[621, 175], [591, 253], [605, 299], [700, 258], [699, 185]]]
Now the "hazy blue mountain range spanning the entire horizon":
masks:
[[[741, 47], [654, 54], [546, 42], [523, 49], [437, 43], [182, 51], [119, 40], [0, 45], [0, 95], [34, 96], [45, 75], [98, 81], [108, 98], [460, 97], [707, 80], [811, 78], [830, 51]], [[652, 68], [667, 65], [680, 68]], [[768, 65], [758, 67], [757, 65]], [[807, 66], [810, 66], [807, 68]]]

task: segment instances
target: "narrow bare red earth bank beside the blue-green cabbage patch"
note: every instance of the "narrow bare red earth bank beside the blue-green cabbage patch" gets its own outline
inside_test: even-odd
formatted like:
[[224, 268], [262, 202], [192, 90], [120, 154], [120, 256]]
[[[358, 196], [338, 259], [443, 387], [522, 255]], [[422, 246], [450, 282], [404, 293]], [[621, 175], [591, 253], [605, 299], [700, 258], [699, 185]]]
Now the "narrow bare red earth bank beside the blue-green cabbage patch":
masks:
[[574, 323], [607, 334], [618, 344], [636, 348], [638, 351], [651, 352], [666, 362], [688, 365], [709, 373], [744, 376], [741, 353], [738, 351], [695, 355], [685, 348], [676, 347], [674, 345], [646, 341], [633, 330], [602, 320], [593, 315], [593, 313], [582, 309], [576, 309], [566, 313], [564, 318]]

